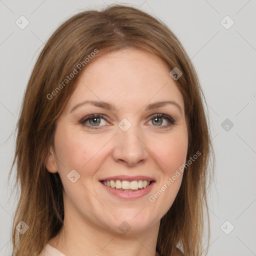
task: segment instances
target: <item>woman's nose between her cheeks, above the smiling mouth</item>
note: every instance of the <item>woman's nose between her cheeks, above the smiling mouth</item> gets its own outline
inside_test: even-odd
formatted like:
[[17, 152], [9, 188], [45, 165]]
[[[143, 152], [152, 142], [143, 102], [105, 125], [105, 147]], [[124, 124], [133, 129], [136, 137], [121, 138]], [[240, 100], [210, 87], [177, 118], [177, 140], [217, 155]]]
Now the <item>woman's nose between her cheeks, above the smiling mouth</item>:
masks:
[[135, 166], [147, 159], [147, 147], [143, 142], [142, 133], [135, 125], [132, 125], [127, 131], [118, 128], [114, 137], [112, 157], [116, 162]]

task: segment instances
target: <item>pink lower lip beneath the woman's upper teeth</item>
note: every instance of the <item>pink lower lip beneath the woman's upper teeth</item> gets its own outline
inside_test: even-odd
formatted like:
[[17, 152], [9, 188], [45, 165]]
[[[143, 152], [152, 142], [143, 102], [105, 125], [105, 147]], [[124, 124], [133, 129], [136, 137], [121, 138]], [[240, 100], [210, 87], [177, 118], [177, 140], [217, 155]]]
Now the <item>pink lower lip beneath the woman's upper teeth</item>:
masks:
[[151, 189], [153, 188], [153, 185], [154, 185], [155, 181], [152, 181], [145, 188], [138, 189], [138, 190], [135, 190], [135, 191], [121, 191], [121, 190], [118, 190], [116, 188], [112, 188], [110, 186], [104, 185], [102, 182], [100, 182], [100, 183], [109, 193], [117, 196], [118, 198], [121, 198], [121, 199], [137, 199], [137, 198], [140, 198], [140, 197], [148, 194], [151, 191]]

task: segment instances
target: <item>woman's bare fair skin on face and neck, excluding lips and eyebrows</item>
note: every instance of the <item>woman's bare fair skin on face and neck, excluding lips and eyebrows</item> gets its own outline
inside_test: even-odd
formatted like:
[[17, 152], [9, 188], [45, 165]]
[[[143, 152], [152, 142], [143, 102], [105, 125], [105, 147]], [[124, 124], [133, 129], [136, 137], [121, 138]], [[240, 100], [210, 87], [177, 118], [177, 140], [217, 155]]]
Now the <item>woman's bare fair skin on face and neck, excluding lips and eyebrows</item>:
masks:
[[[185, 163], [188, 145], [183, 97], [169, 71], [151, 53], [123, 49], [94, 58], [81, 74], [57, 120], [54, 147], [45, 160], [47, 170], [58, 172], [64, 186], [64, 224], [49, 244], [66, 256], [158, 255], [160, 219], [175, 199], [182, 172], [154, 202], [148, 197]], [[70, 112], [84, 100], [108, 102], [116, 109], [87, 103]], [[166, 100], [181, 109], [174, 104], [145, 109]], [[152, 114], [160, 113], [176, 122], [162, 117], [157, 125]], [[90, 114], [105, 119], [96, 119], [98, 126], [87, 120], [85, 126], [80, 120]], [[123, 118], [131, 123], [125, 132], [117, 126]], [[80, 175], [74, 183], [67, 178], [72, 169]], [[120, 199], [99, 180], [121, 174], [147, 175], [156, 183], [147, 195]], [[118, 228], [123, 221], [130, 226], [127, 233]]]

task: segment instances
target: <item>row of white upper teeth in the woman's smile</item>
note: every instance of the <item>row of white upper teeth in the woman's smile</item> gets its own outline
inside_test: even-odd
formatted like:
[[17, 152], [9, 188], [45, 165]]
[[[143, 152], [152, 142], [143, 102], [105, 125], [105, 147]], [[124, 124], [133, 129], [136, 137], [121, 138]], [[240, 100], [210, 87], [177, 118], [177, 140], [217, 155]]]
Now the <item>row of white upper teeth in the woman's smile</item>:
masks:
[[103, 184], [107, 185], [112, 188], [117, 189], [131, 189], [131, 190], [137, 190], [138, 188], [145, 188], [148, 186], [150, 181], [148, 180], [103, 180]]

